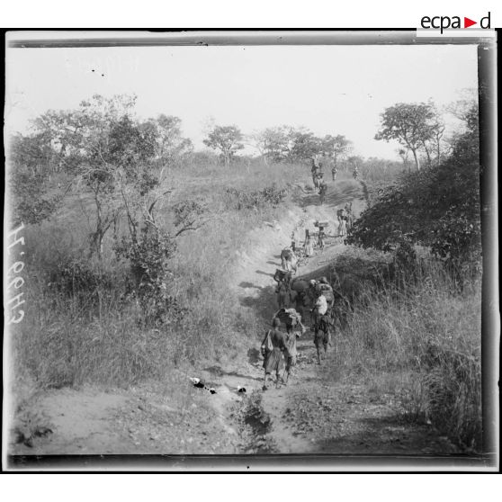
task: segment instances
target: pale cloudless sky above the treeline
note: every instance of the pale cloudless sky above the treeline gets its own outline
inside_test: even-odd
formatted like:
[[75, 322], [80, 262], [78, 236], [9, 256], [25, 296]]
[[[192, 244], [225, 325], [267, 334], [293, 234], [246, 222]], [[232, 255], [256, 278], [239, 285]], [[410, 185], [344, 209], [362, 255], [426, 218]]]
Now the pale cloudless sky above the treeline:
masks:
[[373, 139], [379, 114], [429, 98], [443, 106], [477, 78], [475, 46], [7, 49], [5, 123], [26, 132], [48, 109], [137, 94], [140, 118], [179, 117], [196, 148], [211, 116], [244, 133], [286, 124], [343, 134], [354, 154], [396, 159], [397, 143]]

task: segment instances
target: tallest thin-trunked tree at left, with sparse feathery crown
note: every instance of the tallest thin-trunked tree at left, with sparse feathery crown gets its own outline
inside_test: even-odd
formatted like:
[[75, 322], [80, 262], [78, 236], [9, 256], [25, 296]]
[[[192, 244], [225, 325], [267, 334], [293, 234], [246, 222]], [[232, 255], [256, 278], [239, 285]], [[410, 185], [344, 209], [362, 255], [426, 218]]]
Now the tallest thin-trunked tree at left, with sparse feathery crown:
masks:
[[73, 111], [49, 111], [34, 121], [39, 134], [49, 137], [58, 157], [58, 169], [75, 175], [76, 185], [92, 193], [93, 215], [81, 204], [92, 225], [90, 252], [100, 258], [103, 238], [116, 228], [128, 206], [124, 184], [134, 184], [139, 193], [155, 185], [149, 161], [155, 155], [157, 131], [133, 116], [136, 96], [104, 98], [94, 94]]

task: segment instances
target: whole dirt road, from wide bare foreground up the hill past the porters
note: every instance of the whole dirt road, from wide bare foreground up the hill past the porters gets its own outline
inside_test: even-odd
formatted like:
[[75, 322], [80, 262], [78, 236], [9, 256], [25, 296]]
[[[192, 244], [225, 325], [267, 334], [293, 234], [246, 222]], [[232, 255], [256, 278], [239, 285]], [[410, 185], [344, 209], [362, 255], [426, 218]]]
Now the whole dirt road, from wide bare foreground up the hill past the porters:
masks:
[[[327, 199], [304, 193], [281, 221], [264, 222], [249, 235], [239, 255], [232, 287], [242, 308], [269, 324], [277, 309], [273, 273], [291, 232], [314, 230], [315, 220], [329, 221], [327, 247], [300, 275], [319, 276], [344, 248], [336, 237], [336, 209], [353, 202], [364, 207], [362, 186], [353, 180], [329, 184]], [[262, 358], [257, 333], [247, 354], [225, 366], [205, 368], [196, 376], [216, 390], [187, 385], [180, 371], [171, 382], [148, 382], [130, 390], [54, 390], [40, 396], [30, 420], [49, 424], [51, 432], [32, 444], [13, 445], [16, 454], [76, 453], [336, 453], [445, 454], [453, 446], [429, 425], [403, 421], [399, 400], [360, 381], [327, 378], [333, 360], [319, 367], [308, 331], [298, 343], [298, 364], [289, 385], [263, 391]], [[335, 336], [329, 353], [343, 336]], [[238, 392], [238, 388], [246, 392]], [[175, 396], [173, 395], [175, 394]], [[173, 404], [175, 403], [175, 404]], [[29, 413], [29, 411], [28, 411]], [[37, 416], [37, 414], [39, 414]], [[39, 417], [39, 418], [37, 418]], [[31, 431], [32, 432], [32, 431]]]

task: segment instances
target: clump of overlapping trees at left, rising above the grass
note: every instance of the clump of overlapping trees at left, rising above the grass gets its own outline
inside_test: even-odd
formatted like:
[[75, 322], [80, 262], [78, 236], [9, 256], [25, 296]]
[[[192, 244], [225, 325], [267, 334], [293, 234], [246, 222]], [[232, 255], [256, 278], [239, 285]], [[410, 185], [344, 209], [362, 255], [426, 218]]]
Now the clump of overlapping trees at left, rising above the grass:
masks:
[[[41, 197], [41, 173], [64, 169], [74, 176], [77, 193], [84, 188], [92, 194], [92, 209], [81, 201], [92, 228], [91, 253], [101, 258], [104, 237], [110, 229], [118, 229], [124, 215], [131, 238], [138, 237], [139, 221], [148, 220], [145, 215], [155, 205], [148, 201], [148, 193], [158, 187], [164, 173], [154, 161], [181, 155], [192, 143], [181, 137], [181, 121], [176, 117], [159, 115], [157, 120], [139, 121], [135, 103], [134, 95], [94, 94], [76, 110], [43, 113], [33, 121], [30, 137], [13, 140], [13, 164], [22, 166], [16, 179], [22, 179], [23, 186], [14, 194], [22, 201], [18, 207], [28, 221], [47, 218], [58, 202]], [[32, 180], [25, 179], [30, 177], [28, 170]]]

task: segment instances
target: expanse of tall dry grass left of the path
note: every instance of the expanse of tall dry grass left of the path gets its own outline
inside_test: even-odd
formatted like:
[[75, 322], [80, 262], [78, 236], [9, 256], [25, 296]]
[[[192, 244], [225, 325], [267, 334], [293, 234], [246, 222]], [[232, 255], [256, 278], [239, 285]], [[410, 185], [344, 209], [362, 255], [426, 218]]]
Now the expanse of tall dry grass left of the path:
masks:
[[129, 265], [117, 261], [111, 233], [103, 259], [88, 257], [92, 221], [80, 194], [71, 194], [54, 219], [26, 229], [26, 317], [11, 330], [14, 385], [25, 379], [36, 389], [127, 387], [246, 353], [257, 327], [231, 287], [236, 252], [247, 246], [250, 229], [279, 218], [282, 207], [265, 201], [236, 211], [225, 200], [227, 189], [286, 188], [304, 166], [210, 167], [211, 175], [193, 166], [172, 169], [166, 179], [174, 190], [159, 206], [159, 220], [169, 220], [162, 212], [169, 204], [194, 200], [206, 208], [206, 223], [176, 239], [166, 286], [185, 313], [161, 326], [148, 325], [139, 302], [124, 297]]

